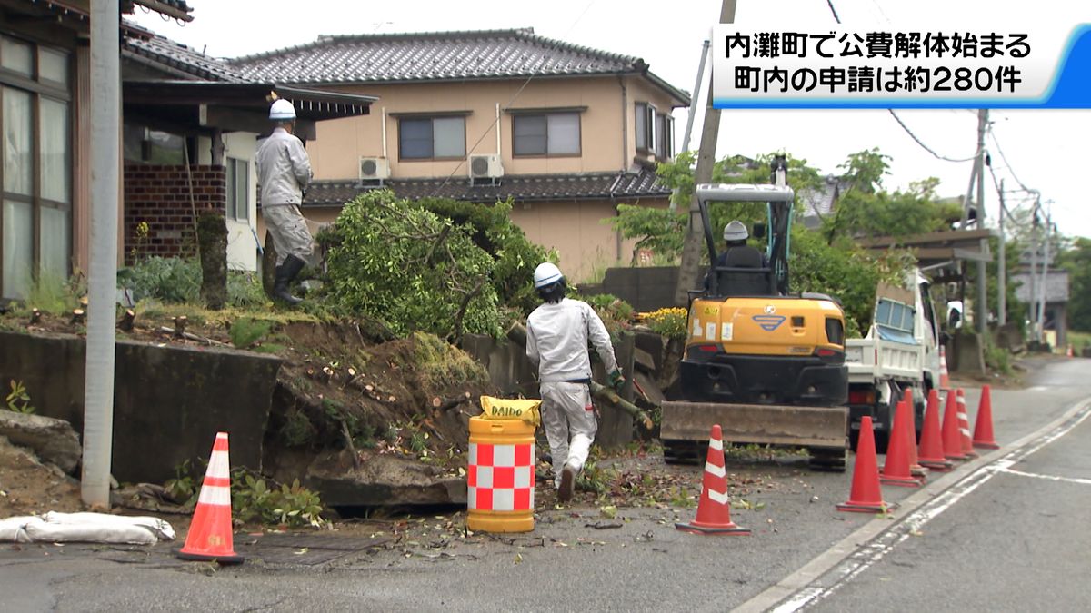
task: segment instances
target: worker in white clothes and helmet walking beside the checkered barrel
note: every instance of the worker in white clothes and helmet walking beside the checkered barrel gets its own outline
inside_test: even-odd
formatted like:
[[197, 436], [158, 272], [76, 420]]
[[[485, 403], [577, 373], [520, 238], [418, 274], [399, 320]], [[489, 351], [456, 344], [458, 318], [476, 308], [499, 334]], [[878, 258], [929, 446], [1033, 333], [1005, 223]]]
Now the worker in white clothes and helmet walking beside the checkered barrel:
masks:
[[565, 279], [556, 265], [546, 262], [535, 269], [535, 289], [546, 302], [527, 317], [527, 358], [538, 371], [558, 500], [567, 502], [598, 430], [588, 340], [610, 373], [610, 385], [621, 389], [625, 378], [602, 320], [586, 302], [564, 297]]

